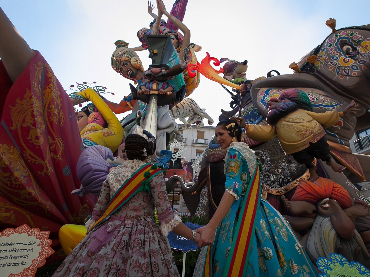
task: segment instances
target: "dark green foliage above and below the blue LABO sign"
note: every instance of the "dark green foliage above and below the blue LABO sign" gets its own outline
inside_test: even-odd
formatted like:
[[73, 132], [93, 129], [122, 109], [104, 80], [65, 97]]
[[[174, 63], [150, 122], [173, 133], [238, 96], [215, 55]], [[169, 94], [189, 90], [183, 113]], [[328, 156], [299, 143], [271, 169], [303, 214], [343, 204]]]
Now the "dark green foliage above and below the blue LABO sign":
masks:
[[[209, 218], [205, 216], [188, 216], [183, 215], [181, 216], [182, 222], [185, 223], [190, 221], [192, 223], [198, 223], [199, 225], [207, 225], [209, 222]], [[185, 260], [185, 276], [193, 276], [194, 268], [196, 261], [198, 260], [198, 256], [201, 253], [201, 249], [196, 251], [189, 251], [186, 252], [186, 260]], [[172, 251], [174, 256], [175, 264], [179, 269], [180, 275], [182, 270], [182, 260], [184, 259], [184, 253], [180, 250]]]

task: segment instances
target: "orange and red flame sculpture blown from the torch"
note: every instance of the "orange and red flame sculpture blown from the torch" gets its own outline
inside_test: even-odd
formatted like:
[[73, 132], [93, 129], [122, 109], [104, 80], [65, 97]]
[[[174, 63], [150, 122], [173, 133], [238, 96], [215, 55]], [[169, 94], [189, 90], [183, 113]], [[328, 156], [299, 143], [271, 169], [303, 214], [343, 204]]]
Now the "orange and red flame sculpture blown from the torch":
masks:
[[223, 72], [223, 69], [220, 67], [220, 70], [216, 70], [211, 66], [211, 62], [214, 62], [213, 65], [219, 66], [220, 61], [217, 58], [210, 57], [209, 53], [207, 52], [207, 55], [204, 59], [202, 59], [202, 62], [199, 64], [197, 61], [196, 64], [188, 64], [188, 73], [191, 78], [195, 77], [196, 73], [195, 71], [199, 71], [203, 76], [206, 78], [222, 83], [223, 85], [226, 86], [231, 86], [232, 88], [235, 89], [240, 89], [239, 85], [236, 85], [232, 82], [229, 82], [228, 80], [222, 78], [219, 73]]

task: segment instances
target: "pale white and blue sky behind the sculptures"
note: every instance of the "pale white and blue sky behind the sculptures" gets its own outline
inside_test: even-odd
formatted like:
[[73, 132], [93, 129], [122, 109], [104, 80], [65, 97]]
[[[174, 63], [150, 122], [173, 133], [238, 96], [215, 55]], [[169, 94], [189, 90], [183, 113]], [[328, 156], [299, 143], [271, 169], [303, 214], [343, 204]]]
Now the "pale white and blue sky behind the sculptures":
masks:
[[[141, 45], [136, 33], [152, 21], [147, 0], [6, 2], [1, 8], [30, 47], [46, 58], [65, 89], [75, 82], [96, 81], [115, 93], [104, 95], [113, 102], [129, 94], [130, 81], [113, 71], [110, 59], [116, 40], [129, 42], [129, 47]], [[173, 2], [164, 0], [168, 12]], [[369, 8], [370, 1], [189, 0], [184, 23], [191, 41], [203, 47], [197, 53], [199, 62], [206, 51], [218, 59], [246, 59], [246, 76], [256, 79], [272, 69], [291, 73], [289, 64], [330, 34], [325, 25], [329, 17], [336, 18], [337, 28], [363, 25], [369, 23]], [[146, 68], [151, 62], [148, 51], [138, 54]], [[231, 110], [229, 94], [203, 76], [190, 97], [207, 109], [214, 125], [221, 108]]]

